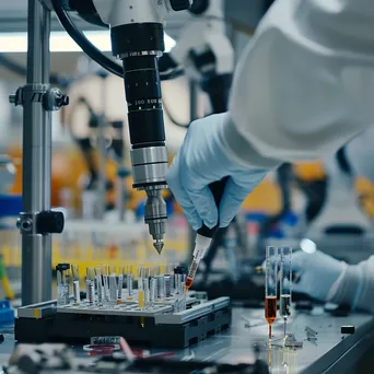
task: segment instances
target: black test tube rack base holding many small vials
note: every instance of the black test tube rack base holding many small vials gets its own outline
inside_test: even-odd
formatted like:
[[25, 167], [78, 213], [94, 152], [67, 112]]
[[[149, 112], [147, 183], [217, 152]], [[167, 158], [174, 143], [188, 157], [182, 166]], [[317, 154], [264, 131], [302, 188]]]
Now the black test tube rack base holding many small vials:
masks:
[[57, 306], [50, 301], [17, 309], [14, 323], [19, 342], [89, 343], [95, 336], [122, 336], [130, 343], [150, 348], [183, 349], [231, 326], [230, 297], [201, 302], [187, 297], [187, 309], [174, 313], [173, 297], [140, 309], [137, 302], [116, 306]]

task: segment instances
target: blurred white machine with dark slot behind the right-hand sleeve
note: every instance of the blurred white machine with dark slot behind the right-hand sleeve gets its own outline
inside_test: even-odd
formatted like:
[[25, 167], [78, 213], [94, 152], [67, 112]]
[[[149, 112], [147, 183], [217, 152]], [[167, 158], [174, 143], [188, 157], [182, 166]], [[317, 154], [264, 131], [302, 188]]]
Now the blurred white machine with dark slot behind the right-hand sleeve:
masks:
[[[355, 141], [351, 141], [353, 145]], [[360, 204], [355, 190], [357, 175], [352, 167], [354, 163], [357, 165], [366, 160], [354, 160], [355, 154], [347, 152], [349, 148], [350, 143], [323, 159], [327, 174], [324, 200], [304, 237], [315, 242], [324, 253], [357, 264], [373, 252], [374, 236], [373, 223]], [[352, 246], [357, 250], [351, 250]]]

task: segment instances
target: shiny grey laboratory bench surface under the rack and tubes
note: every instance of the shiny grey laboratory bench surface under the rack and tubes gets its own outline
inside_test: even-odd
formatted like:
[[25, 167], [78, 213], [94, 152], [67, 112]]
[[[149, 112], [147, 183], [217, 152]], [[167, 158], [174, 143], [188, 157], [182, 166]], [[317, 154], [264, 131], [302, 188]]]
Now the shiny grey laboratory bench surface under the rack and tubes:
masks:
[[[342, 335], [341, 326], [353, 326], [354, 334]], [[283, 322], [280, 318], [274, 323], [272, 331], [269, 351], [264, 309], [234, 307], [230, 330], [174, 353], [180, 361], [229, 364], [253, 363], [259, 358], [270, 363], [270, 373], [361, 374], [365, 372], [362, 369], [358, 371], [358, 364], [374, 346], [374, 320], [371, 315], [336, 317], [325, 313], [323, 307], [315, 307], [312, 312], [294, 312], [289, 320], [288, 332], [303, 343], [300, 349], [283, 348]], [[14, 335], [11, 327], [3, 328], [2, 332], [4, 341], [0, 344], [0, 362], [5, 363], [14, 348]], [[86, 355], [82, 346], [74, 350], [79, 357]]]

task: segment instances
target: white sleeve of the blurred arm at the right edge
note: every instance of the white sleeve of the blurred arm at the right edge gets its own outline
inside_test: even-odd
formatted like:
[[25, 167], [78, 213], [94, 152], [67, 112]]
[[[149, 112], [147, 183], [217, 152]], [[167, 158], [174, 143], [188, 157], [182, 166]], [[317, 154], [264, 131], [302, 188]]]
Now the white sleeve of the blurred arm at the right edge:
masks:
[[359, 265], [348, 266], [346, 273], [331, 299], [332, 303], [351, 305], [353, 309], [374, 313], [374, 256]]

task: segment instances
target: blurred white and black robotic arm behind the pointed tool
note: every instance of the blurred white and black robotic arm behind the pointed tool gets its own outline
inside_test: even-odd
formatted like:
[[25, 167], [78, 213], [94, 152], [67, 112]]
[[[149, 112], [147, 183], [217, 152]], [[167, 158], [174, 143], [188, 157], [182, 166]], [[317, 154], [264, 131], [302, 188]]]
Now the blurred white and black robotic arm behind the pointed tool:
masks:
[[183, 66], [201, 83], [214, 114], [227, 110], [235, 52], [227, 37], [223, 0], [194, 0], [191, 22], [184, 27], [177, 45], [161, 58], [162, 70]]

